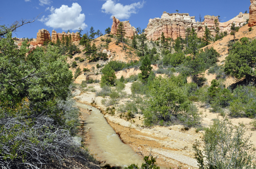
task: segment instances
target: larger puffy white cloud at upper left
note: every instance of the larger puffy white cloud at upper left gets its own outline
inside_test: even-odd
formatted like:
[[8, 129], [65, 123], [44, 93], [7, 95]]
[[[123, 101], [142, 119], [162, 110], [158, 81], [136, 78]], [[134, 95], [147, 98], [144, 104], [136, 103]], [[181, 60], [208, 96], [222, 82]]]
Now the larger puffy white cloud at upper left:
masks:
[[86, 23], [84, 23], [86, 15], [81, 14], [82, 8], [77, 3], [73, 3], [71, 7], [62, 5], [60, 8], [54, 9], [51, 7], [49, 10], [52, 14], [48, 15], [48, 17], [43, 16], [39, 20], [44, 22], [45, 25], [53, 27], [53, 29], [74, 31], [78, 30], [79, 27], [81, 27], [81, 29], [85, 29], [87, 27]]

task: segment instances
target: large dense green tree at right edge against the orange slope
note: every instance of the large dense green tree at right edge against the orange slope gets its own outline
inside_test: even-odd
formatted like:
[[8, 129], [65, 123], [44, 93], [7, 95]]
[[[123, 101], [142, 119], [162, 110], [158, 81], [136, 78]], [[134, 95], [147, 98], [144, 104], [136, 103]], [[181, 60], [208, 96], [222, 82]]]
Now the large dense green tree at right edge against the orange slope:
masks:
[[233, 44], [225, 61], [225, 72], [238, 79], [245, 77], [248, 84], [251, 76], [255, 74], [255, 45], [256, 40], [249, 42], [246, 37], [241, 38], [240, 42]]

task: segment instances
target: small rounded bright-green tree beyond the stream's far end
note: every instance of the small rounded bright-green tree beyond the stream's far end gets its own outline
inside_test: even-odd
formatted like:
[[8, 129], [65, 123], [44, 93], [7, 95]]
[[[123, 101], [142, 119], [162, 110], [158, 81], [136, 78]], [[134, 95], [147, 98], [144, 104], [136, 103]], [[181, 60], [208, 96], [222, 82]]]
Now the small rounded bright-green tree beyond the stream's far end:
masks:
[[113, 86], [116, 79], [115, 70], [108, 64], [101, 69], [101, 72], [103, 75], [101, 76], [100, 86]]

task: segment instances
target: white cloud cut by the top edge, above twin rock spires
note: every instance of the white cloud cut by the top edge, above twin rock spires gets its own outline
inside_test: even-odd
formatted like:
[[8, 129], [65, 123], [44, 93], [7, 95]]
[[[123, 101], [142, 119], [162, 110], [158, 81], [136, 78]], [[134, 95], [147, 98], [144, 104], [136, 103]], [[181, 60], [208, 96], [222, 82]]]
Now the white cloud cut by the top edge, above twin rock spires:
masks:
[[110, 18], [115, 16], [118, 19], [128, 19], [131, 14], [136, 14], [136, 9], [142, 8], [144, 2], [133, 3], [123, 6], [120, 3], [115, 3], [112, 0], [107, 0], [101, 7], [103, 13], [112, 14]]

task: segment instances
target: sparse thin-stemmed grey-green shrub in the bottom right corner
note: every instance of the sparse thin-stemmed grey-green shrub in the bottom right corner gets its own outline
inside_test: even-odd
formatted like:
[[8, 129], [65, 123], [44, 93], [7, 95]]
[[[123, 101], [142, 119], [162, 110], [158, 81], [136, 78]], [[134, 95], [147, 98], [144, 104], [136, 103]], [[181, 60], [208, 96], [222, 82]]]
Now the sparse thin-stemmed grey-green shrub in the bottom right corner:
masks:
[[205, 130], [203, 151], [199, 142], [193, 146], [199, 168], [255, 168], [249, 138], [243, 124], [233, 127], [226, 119], [215, 120]]

